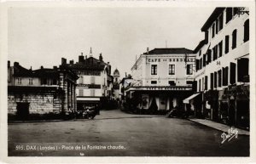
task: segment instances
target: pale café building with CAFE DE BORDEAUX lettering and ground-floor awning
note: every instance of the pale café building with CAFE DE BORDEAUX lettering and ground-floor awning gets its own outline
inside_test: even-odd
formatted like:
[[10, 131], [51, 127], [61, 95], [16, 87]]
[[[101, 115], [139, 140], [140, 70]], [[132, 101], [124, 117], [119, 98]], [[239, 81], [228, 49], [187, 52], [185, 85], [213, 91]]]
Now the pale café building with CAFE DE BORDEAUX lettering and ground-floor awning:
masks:
[[183, 108], [193, 92], [195, 54], [187, 48], [154, 48], [141, 54], [131, 68], [133, 82], [126, 94], [141, 101], [139, 109], [157, 112]]

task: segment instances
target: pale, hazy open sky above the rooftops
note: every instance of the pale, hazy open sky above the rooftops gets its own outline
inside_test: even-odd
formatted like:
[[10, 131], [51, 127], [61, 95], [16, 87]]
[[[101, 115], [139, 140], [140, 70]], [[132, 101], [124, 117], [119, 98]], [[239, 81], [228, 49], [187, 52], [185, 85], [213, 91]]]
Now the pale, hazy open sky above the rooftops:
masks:
[[154, 48], [195, 49], [214, 8], [9, 8], [8, 59], [51, 68], [81, 52], [131, 73], [136, 56]]

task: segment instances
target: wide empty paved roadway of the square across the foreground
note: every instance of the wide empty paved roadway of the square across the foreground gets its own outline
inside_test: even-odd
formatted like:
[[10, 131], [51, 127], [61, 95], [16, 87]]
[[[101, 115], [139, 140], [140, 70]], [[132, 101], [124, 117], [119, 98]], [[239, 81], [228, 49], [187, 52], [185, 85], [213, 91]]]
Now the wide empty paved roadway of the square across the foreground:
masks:
[[[188, 120], [102, 110], [95, 120], [10, 123], [9, 156], [249, 156], [248, 136], [221, 144], [221, 134]], [[88, 149], [66, 150], [63, 144]], [[17, 150], [20, 145], [24, 150]], [[26, 145], [60, 147], [27, 150]]]

